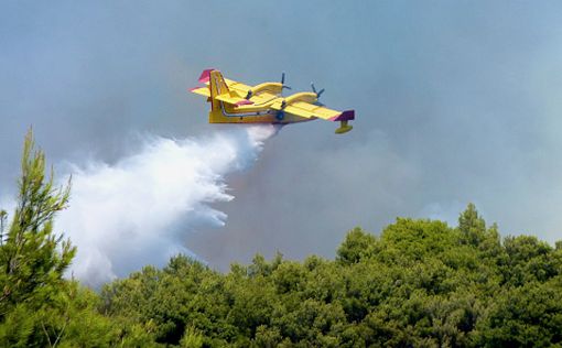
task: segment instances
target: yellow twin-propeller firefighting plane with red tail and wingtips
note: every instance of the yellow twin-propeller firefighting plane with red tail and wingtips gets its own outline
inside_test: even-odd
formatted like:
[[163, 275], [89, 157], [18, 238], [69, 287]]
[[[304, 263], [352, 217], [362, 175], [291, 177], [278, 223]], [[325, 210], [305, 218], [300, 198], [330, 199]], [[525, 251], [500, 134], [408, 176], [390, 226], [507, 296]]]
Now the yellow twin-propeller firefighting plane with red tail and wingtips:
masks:
[[352, 130], [347, 124], [355, 119], [355, 111], [336, 111], [318, 102], [324, 89], [301, 91], [289, 97], [281, 96], [284, 73], [281, 83], [263, 83], [250, 87], [235, 80], [223, 78], [217, 69], [206, 69], [201, 74], [199, 83], [206, 87], [195, 87], [191, 91], [207, 97], [210, 102], [209, 123], [295, 123], [324, 119], [339, 121], [337, 134]]

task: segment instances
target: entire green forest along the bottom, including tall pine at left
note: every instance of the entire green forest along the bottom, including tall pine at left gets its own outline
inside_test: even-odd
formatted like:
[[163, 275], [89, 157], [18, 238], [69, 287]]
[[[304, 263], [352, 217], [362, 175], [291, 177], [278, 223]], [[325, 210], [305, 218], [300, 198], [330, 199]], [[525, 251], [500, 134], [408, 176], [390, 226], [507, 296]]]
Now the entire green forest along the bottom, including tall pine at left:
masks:
[[2, 347], [517, 347], [562, 345], [562, 243], [398, 218], [350, 230], [334, 260], [256, 255], [220, 273], [185, 255], [95, 292], [65, 278], [53, 231], [69, 186], [25, 140], [15, 211], [0, 214]]

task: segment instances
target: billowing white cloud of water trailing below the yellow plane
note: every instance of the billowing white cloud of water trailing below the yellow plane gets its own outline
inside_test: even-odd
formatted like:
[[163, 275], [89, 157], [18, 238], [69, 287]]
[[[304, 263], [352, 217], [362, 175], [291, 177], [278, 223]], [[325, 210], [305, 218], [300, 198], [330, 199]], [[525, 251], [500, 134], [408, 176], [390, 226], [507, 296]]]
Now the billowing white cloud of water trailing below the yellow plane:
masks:
[[162, 265], [192, 252], [185, 233], [221, 226], [226, 215], [209, 205], [228, 202], [225, 175], [253, 163], [273, 126], [223, 131], [208, 139], [152, 138], [112, 165], [72, 165], [71, 204], [56, 230], [78, 248], [74, 276], [99, 285], [145, 264]]

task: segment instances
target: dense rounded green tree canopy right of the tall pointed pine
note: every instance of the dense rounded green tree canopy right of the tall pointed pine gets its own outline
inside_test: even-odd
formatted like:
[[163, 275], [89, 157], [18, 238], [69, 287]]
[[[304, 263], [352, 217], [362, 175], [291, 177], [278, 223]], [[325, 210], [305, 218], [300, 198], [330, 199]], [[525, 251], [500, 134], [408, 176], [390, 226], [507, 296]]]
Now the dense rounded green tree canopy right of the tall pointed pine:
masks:
[[560, 345], [561, 257], [531, 237], [501, 242], [468, 205], [457, 228], [407, 218], [380, 237], [355, 228], [335, 261], [258, 254], [219, 274], [177, 257], [102, 297], [111, 317], [154, 323], [179, 333], [156, 341], [184, 347]]

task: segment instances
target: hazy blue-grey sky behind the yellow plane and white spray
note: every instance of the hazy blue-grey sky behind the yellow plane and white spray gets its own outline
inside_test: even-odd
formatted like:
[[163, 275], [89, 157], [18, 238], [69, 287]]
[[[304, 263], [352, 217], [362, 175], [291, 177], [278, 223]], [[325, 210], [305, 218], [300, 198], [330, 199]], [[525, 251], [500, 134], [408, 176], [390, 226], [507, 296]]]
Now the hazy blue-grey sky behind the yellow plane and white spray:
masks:
[[215, 267], [333, 257], [349, 228], [468, 202], [504, 235], [562, 239], [559, 1], [2, 1], [0, 195], [30, 124], [55, 165], [221, 129], [186, 93], [208, 67], [314, 80], [357, 118], [285, 127], [227, 180], [226, 227], [186, 237]]

